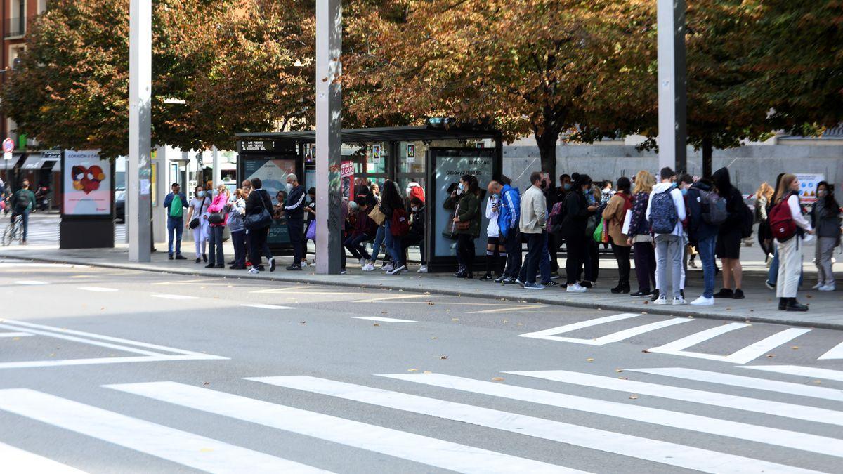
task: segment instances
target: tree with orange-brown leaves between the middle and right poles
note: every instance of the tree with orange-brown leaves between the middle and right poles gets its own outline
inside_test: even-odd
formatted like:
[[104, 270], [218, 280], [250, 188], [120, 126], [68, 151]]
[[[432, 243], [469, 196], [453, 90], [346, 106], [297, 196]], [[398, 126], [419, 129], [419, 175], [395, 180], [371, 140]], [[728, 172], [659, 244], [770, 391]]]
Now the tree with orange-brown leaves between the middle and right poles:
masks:
[[[654, 109], [655, 3], [639, 0], [395, 1], [367, 20], [368, 46], [346, 58], [344, 84], [373, 92], [346, 104], [384, 113], [495, 121], [532, 133], [542, 169], [556, 142], [638, 131]], [[366, 36], [366, 35], [362, 35]], [[385, 111], [385, 112], [384, 112]]]

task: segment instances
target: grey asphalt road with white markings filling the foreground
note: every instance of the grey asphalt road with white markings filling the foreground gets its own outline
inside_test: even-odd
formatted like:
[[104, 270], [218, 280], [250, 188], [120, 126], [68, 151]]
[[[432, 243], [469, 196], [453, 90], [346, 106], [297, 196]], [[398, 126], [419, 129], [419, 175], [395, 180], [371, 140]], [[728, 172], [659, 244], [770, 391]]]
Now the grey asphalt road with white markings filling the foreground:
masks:
[[0, 261], [3, 472], [840, 472], [843, 332]]

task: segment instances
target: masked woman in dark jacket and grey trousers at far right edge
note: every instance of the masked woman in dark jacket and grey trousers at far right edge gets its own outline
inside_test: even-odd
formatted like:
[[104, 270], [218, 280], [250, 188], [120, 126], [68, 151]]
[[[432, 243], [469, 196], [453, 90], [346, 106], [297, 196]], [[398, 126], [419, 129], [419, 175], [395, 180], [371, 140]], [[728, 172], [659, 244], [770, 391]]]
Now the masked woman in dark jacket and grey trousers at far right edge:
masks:
[[814, 263], [817, 266], [817, 284], [813, 289], [835, 291], [835, 274], [832, 271], [831, 255], [840, 245], [840, 204], [834, 191], [826, 181], [817, 185], [817, 202], [811, 208], [811, 227], [817, 234]]

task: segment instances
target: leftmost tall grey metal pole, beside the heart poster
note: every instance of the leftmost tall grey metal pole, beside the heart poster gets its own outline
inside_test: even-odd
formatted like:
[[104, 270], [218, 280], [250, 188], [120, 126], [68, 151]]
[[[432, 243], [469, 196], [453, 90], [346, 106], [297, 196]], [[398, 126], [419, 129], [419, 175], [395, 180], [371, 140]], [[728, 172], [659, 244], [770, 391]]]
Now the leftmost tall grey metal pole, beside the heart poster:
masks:
[[149, 0], [132, 0], [129, 8], [129, 163], [126, 202], [129, 215], [129, 261], [150, 261], [152, 240], [152, 62], [153, 8]]

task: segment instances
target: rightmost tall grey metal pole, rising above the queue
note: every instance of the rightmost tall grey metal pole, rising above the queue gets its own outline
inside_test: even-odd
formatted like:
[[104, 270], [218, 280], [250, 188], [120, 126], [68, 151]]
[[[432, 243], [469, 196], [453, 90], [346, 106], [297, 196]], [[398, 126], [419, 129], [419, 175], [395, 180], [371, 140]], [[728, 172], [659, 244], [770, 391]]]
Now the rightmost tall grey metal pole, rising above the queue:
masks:
[[685, 0], [658, 0], [658, 167], [686, 170]]

